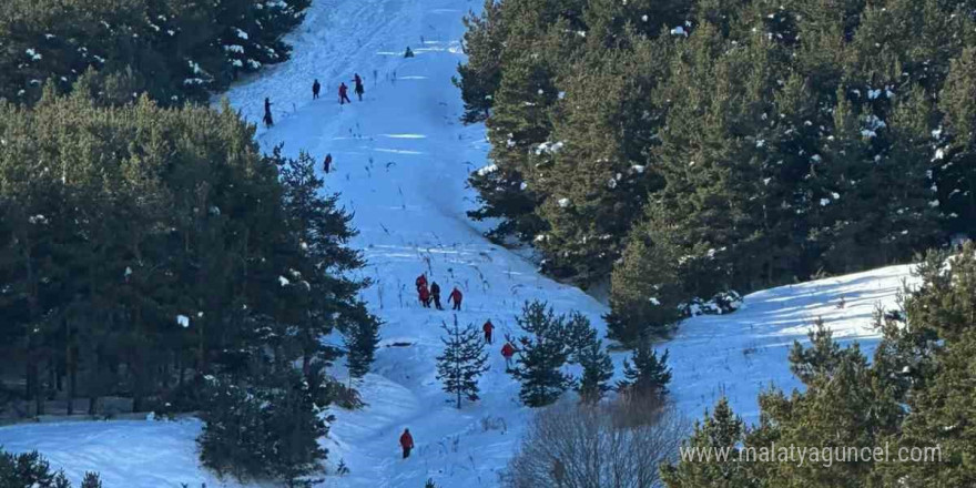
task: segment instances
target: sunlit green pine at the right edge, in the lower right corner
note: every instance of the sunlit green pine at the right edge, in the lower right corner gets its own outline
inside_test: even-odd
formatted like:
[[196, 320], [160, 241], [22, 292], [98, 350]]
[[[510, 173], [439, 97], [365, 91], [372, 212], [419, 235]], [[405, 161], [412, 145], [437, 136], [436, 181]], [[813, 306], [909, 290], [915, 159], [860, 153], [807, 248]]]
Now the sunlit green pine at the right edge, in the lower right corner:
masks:
[[[972, 382], [976, 354], [976, 246], [958, 253], [933, 252], [918, 266], [922, 284], [904, 303], [905, 327], [885, 329], [882, 346], [898, 350], [882, 373], [909, 379], [903, 400], [908, 414], [892, 440], [902, 448], [933, 448], [941, 462], [889, 464], [889, 482], [919, 486], [967, 486], [976, 481], [974, 415], [976, 387]], [[950, 264], [949, 264], [950, 263]]]

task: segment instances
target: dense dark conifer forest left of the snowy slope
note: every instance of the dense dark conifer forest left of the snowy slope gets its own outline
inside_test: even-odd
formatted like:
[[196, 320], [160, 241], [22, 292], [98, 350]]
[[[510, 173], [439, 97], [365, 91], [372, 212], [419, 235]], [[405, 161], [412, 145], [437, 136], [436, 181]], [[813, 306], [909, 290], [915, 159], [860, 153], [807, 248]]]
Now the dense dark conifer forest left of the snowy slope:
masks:
[[221, 475], [321, 472], [323, 409], [358, 406], [328, 368], [364, 375], [378, 342], [348, 277], [356, 231], [311, 156], [262, 154], [226, 102], [206, 106], [288, 59], [307, 6], [0, 6], [4, 417], [199, 413]]

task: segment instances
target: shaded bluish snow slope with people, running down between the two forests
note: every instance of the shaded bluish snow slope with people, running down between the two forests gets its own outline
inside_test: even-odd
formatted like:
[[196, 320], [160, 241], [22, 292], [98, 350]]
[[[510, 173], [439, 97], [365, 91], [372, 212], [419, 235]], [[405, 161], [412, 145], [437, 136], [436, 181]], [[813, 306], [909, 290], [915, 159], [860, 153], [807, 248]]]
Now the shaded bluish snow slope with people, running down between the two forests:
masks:
[[[374, 282], [364, 298], [385, 324], [374, 372], [357, 385], [368, 406], [335, 411], [326, 446], [333, 464], [342, 459], [350, 469], [337, 484], [420, 487], [430, 477], [438, 486], [495, 486], [527, 414], [504, 372], [501, 342], [488, 350], [482, 400], [453, 408], [435, 358], [443, 349], [440, 325], [454, 314], [421, 308], [414, 279], [427, 273], [437, 282], [446, 308], [451, 288], [460, 288], [458, 322], [480, 327], [490, 318], [499, 339], [515, 332], [514, 315], [526, 299], [546, 299], [561, 312], [579, 308], [596, 324], [603, 308], [489, 243], [466, 216], [475, 196], [466, 181], [485, 164], [488, 145], [482, 126], [459, 123], [451, 77], [464, 59], [461, 17], [480, 2], [372, 1], [352, 16], [342, 4], [321, 37], [302, 28], [292, 62], [228, 95], [255, 123], [265, 96], [285, 106], [275, 113], [276, 125], [260, 131], [262, 146], [284, 144], [286, 154], [306, 151], [319, 162], [332, 154], [328, 190], [355, 214], [353, 245], [368, 262], [364, 277]], [[404, 59], [407, 45], [415, 58]], [[334, 55], [321, 62], [322, 52]], [[364, 101], [339, 105], [338, 84], [352, 87], [356, 73], [365, 80]], [[323, 95], [313, 101], [316, 78]], [[416, 441], [407, 460], [397, 444], [405, 427]]]

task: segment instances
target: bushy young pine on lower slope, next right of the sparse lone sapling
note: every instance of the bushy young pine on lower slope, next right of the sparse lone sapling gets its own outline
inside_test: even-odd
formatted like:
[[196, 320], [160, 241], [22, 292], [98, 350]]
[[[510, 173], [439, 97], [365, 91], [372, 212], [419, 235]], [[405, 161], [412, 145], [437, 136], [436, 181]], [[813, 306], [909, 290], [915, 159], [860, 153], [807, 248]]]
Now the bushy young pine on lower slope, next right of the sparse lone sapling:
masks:
[[511, 372], [521, 384], [519, 398], [530, 407], [552, 404], [569, 388], [572, 378], [562, 372], [570, 350], [565, 343], [565, 317], [542, 302], [526, 303], [517, 322], [526, 335], [519, 337], [518, 364]]

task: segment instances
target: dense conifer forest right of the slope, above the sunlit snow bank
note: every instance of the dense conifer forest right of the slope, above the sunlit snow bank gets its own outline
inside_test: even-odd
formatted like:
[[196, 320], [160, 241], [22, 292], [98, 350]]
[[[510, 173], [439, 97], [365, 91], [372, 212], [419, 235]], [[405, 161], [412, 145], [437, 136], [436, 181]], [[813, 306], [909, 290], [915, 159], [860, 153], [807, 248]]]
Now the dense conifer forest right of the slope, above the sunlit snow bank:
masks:
[[492, 144], [472, 216], [609, 284], [626, 343], [973, 234], [974, 9], [489, 0], [456, 79]]

